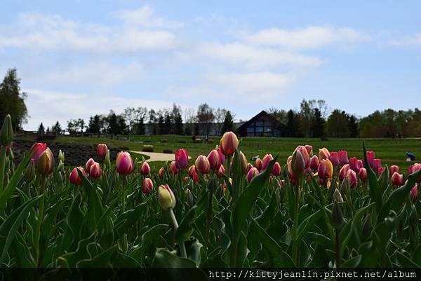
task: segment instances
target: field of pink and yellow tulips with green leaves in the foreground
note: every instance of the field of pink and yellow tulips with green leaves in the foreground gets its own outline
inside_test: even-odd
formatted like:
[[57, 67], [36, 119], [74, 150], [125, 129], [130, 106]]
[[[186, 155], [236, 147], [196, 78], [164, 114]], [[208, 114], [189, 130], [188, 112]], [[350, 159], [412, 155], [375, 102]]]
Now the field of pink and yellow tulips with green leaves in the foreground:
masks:
[[152, 171], [105, 143], [81, 167], [41, 142], [15, 165], [10, 117], [0, 142], [2, 268], [421, 266], [421, 164], [363, 146], [251, 161], [227, 132], [194, 165], [178, 149]]

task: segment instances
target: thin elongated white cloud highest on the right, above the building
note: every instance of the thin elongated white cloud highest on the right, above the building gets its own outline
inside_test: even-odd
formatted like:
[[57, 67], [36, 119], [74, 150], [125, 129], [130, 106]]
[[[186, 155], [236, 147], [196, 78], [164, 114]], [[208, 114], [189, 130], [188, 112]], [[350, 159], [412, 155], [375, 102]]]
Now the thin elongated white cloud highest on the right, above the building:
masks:
[[309, 26], [302, 29], [262, 29], [260, 32], [248, 34], [239, 32], [244, 41], [256, 45], [281, 46], [288, 49], [321, 48], [331, 43], [354, 43], [369, 39], [356, 29], [342, 27]]

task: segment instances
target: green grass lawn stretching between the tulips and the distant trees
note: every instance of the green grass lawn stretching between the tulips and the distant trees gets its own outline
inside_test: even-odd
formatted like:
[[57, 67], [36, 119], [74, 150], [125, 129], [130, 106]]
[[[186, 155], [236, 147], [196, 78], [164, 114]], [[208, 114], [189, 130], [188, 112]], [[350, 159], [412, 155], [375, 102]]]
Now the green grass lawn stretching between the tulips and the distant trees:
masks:
[[[109, 146], [122, 150], [142, 151], [143, 145], [152, 144], [154, 152], [163, 152], [164, 149], [175, 151], [185, 148], [192, 156], [191, 162], [200, 154], [207, 155], [210, 149], [213, 149], [219, 143], [219, 137], [213, 137], [213, 143], [193, 143], [190, 136], [159, 135], [159, 136], [138, 136], [131, 135], [130, 141], [127, 136], [124, 140], [98, 138], [98, 137], [68, 137], [59, 136], [53, 142], [62, 143], [81, 143], [98, 144], [106, 143]], [[349, 158], [356, 156], [362, 158], [363, 141], [366, 142], [368, 150], [375, 151], [376, 158], [381, 158], [382, 163], [386, 165], [399, 165], [406, 169], [410, 162], [406, 162], [406, 152], [412, 152], [417, 156], [417, 161], [421, 162], [421, 139], [329, 139], [321, 141], [320, 139], [302, 139], [302, 138], [272, 138], [272, 137], [243, 137], [241, 138], [241, 150], [247, 158], [253, 156], [265, 156], [266, 153], [272, 153], [273, 156], [279, 154], [281, 165], [286, 163], [286, 158], [291, 155], [296, 146], [300, 144], [310, 144], [314, 151], [318, 151], [323, 146], [329, 151], [338, 151], [345, 149], [348, 151]], [[168, 142], [166, 142], [168, 141]], [[185, 142], [185, 143], [184, 143]], [[140, 160], [141, 156], [138, 156]], [[145, 157], [147, 158], [147, 157]], [[156, 170], [163, 163], [151, 163], [152, 169]]]

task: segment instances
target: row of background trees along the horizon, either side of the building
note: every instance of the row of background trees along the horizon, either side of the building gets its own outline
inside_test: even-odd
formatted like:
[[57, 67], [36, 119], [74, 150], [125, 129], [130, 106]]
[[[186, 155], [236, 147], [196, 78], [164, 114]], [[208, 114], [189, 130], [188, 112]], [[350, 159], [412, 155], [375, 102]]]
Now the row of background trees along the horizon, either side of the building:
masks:
[[[8, 69], [0, 83], [0, 120], [7, 114], [12, 116], [15, 131], [29, 118], [25, 99], [26, 92], [20, 89], [20, 78], [16, 69]], [[288, 137], [421, 137], [421, 111], [386, 109], [358, 118], [340, 109], [328, 109], [324, 100], [302, 100], [299, 110], [269, 108], [284, 125]], [[220, 135], [235, 130], [234, 114], [223, 108], [214, 109], [208, 104], [200, 104], [197, 109], [185, 109], [173, 104], [171, 109], [147, 109], [128, 107], [120, 114], [95, 114], [88, 121], [76, 118], [67, 121], [66, 130], [70, 134], [107, 133], [145, 135]], [[44, 127], [39, 125], [41, 134], [59, 135], [64, 132], [59, 122]]]

